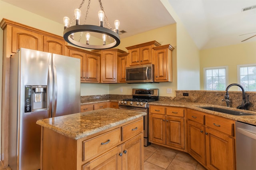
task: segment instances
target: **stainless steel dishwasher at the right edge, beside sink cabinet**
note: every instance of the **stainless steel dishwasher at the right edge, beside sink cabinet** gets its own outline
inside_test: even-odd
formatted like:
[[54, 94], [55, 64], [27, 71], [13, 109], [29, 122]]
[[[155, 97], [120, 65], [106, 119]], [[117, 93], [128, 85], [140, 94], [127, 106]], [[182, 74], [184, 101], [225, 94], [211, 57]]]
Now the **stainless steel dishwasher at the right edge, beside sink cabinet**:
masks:
[[256, 126], [236, 122], [236, 169], [256, 170]]

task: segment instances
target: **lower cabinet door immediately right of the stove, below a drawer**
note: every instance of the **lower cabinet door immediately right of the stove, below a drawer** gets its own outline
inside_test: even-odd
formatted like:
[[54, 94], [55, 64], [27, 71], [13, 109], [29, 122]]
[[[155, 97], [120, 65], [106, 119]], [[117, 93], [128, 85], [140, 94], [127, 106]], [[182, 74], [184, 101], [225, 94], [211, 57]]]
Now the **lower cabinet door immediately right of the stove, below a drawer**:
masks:
[[166, 121], [165, 116], [150, 114], [149, 115], [149, 140], [166, 144]]

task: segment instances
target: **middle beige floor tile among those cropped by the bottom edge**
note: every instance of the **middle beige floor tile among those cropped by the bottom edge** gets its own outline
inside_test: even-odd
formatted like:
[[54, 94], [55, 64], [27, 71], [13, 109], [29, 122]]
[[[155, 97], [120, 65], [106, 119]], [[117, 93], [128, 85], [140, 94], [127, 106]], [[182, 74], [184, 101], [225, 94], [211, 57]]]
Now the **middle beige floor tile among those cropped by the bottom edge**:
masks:
[[167, 170], [196, 170], [196, 165], [174, 159], [168, 166]]

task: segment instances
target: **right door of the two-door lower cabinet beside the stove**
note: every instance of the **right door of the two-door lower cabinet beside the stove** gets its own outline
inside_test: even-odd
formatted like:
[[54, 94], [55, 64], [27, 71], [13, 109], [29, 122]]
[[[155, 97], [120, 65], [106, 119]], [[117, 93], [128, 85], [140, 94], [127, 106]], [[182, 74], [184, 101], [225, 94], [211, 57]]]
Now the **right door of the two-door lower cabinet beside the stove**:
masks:
[[185, 149], [184, 118], [166, 117], [166, 144], [174, 148]]

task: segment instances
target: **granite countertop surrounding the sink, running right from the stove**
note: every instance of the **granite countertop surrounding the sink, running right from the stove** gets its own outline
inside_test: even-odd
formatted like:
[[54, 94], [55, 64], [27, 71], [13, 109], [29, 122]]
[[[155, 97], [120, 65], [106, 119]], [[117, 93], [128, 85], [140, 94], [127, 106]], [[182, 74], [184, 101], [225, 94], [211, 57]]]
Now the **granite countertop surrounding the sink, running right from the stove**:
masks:
[[[256, 125], [256, 111], [247, 111], [247, 110], [240, 110], [240, 109], [235, 109], [235, 108], [228, 108], [228, 107], [222, 107], [222, 106], [216, 106], [216, 105], [210, 105], [207, 103], [193, 103], [193, 102], [187, 102], [187, 101], [154, 101], [148, 103], [149, 105], [162, 105], [162, 106], [173, 106], [173, 107], [186, 107], [189, 109], [194, 109], [197, 111], [202, 111], [204, 113], [209, 113], [212, 115], [217, 115], [220, 117], [226, 117], [228, 119], [233, 119], [235, 121], [240, 121], [244, 123], [248, 123], [251, 125]], [[200, 107], [219, 107], [223, 109], [230, 109], [230, 110], [235, 110], [235, 111], [242, 111], [245, 113], [251, 113], [254, 115], [248, 115], [248, 116], [235, 116], [235, 115], [230, 115], [226, 113], [220, 113], [216, 111], [210, 111], [207, 109], [202, 109]]]

